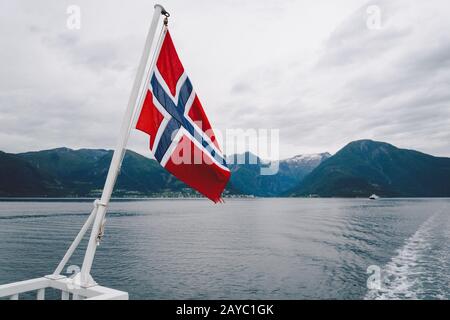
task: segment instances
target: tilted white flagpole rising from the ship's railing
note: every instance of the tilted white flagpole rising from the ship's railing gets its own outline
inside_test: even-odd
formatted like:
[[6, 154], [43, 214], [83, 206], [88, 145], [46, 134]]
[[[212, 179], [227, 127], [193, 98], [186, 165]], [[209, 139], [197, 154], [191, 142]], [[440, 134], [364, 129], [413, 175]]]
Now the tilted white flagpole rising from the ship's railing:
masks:
[[155, 38], [156, 29], [158, 27], [159, 18], [161, 15], [166, 15], [167, 11], [160, 4], [155, 5], [155, 11], [153, 13], [152, 23], [147, 34], [145, 41], [144, 51], [139, 62], [139, 67], [136, 73], [136, 78], [134, 79], [133, 88], [131, 90], [130, 98], [128, 100], [127, 110], [125, 112], [122, 128], [120, 131], [119, 139], [117, 141], [116, 149], [111, 160], [111, 165], [109, 167], [108, 175], [106, 177], [105, 186], [103, 188], [103, 193], [100, 201], [97, 203], [97, 212], [95, 214], [94, 225], [92, 227], [91, 236], [89, 238], [88, 247], [83, 260], [83, 265], [81, 267], [81, 285], [84, 287], [89, 287], [96, 285], [90, 276], [92, 262], [94, 260], [95, 251], [97, 248], [97, 239], [104, 223], [104, 218], [106, 214], [106, 207], [111, 199], [111, 194], [114, 189], [114, 184], [116, 183], [117, 176], [120, 171], [122, 164], [122, 159], [126, 151], [126, 145], [128, 142], [128, 137], [130, 135], [130, 127], [133, 122], [133, 115], [136, 106], [136, 102], [139, 96], [139, 89], [142, 85], [143, 77], [145, 74], [146, 66], [150, 57], [150, 51]]

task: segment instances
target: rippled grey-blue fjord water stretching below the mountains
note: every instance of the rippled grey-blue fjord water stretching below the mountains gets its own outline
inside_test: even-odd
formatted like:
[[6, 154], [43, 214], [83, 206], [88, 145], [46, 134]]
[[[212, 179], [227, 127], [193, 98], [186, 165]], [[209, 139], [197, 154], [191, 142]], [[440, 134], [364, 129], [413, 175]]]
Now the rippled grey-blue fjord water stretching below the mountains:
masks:
[[[0, 202], [0, 284], [51, 273], [91, 207]], [[450, 298], [450, 199], [114, 201], [105, 231], [92, 274], [131, 299]]]

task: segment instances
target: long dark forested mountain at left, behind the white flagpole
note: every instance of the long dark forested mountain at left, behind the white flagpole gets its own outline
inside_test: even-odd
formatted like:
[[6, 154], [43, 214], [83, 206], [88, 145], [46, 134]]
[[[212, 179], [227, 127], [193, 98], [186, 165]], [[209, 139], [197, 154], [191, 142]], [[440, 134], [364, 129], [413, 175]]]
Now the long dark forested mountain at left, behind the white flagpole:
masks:
[[[98, 196], [106, 180], [112, 151], [58, 148], [17, 155], [0, 153], [1, 196]], [[6, 164], [6, 166], [5, 166]], [[127, 151], [115, 196], [188, 192], [187, 186], [156, 161]]]

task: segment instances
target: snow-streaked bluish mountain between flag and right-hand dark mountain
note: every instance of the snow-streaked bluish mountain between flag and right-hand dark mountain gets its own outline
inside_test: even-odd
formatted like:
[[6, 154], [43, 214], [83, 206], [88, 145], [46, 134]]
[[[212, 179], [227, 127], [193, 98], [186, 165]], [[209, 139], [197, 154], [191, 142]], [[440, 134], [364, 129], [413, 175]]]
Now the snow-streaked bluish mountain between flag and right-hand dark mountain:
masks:
[[[297, 186], [305, 176], [330, 156], [329, 153], [298, 155], [273, 163], [275, 168], [278, 167], [276, 174], [261, 175], [261, 169], [269, 166], [267, 161], [249, 152], [234, 155], [227, 159], [231, 170], [230, 184], [247, 195], [279, 196]], [[242, 162], [244, 164], [239, 164]]]

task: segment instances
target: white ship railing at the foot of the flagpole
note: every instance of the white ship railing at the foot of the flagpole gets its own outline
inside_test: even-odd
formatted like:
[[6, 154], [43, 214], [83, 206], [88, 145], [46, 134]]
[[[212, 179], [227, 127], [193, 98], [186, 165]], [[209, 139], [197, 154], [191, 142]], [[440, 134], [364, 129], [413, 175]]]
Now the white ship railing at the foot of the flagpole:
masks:
[[47, 288], [61, 291], [61, 300], [128, 300], [127, 292], [99, 285], [85, 288], [74, 278], [54, 275], [0, 285], [0, 298], [19, 300], [21, 294], [35, 291], [37, 300], [45, 300]]

